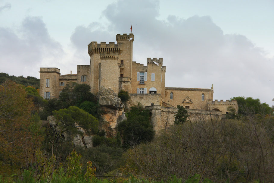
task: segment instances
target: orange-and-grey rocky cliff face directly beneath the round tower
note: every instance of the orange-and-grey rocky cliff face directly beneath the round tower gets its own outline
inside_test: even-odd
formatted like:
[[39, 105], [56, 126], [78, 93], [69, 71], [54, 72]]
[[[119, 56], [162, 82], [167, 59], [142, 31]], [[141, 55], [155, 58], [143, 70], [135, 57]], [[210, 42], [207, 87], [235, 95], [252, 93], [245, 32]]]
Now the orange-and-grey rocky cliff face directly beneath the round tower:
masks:
[[106, 131], [107, 137], [113, 137], [116, 135], [117, 124], [126, 120], [125, 105], [111, 88], [101, 87], [97, 98], [101, 106], [102, 118], [107, 122], [103, 129]]

